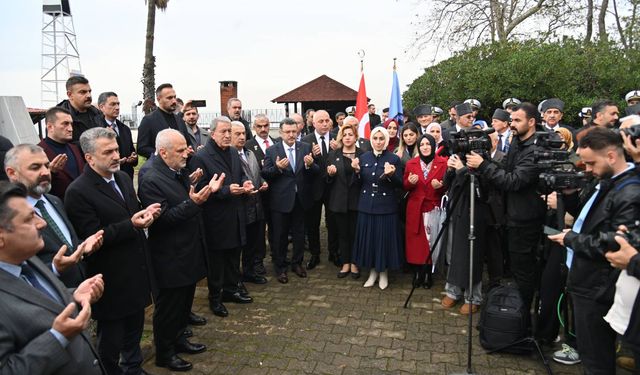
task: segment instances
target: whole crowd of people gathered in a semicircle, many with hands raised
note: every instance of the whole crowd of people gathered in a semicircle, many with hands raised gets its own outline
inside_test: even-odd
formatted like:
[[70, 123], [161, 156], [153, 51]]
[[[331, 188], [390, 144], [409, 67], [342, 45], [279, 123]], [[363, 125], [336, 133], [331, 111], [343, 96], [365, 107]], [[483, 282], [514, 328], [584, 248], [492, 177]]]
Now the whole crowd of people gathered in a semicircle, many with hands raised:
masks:
[[[202, 129], [197, 103], [179, 105], [162, 84], [137, 145], [116, 93], [95, 107], [89, 81], [72, 77], [67, 94], [47, 111], [38, 145], [0, 139], [9, 181], [0, 183], [0, 370], [145, 373], [140, 340], [153, 302], [156, 365], [188, 371], [179, 354], [206, 350], [189, 340], [190, 325], [207, 324], [191, 312], [196, 283], [206, 277], [209, 307], [226, 317], [224, 303], [253, 301], [246, 284], [269, 282], [268, 254], [277, 282], [289, 271], [307, 277], [323, 261], [323, 213], [337, 278], [368, 272], [363, 287], [384, 290], [389, 272], [404, 269], [429, 289], [444, 266], [441, 305], [460, 303], [461, 314], [512, 278], [531, 333], [547, 344], [560, 333], [566, 287], [575, 332], [554, 359], [614, 373], [617, 336], [640, 359], [640, 257], [625, 239], [640, 220], [640, 141], [630, 131], [640, 126], [640, 91], [627, 94], [622, 121], [613, 101], [585, 107], [580, 129], [562, 123], [558, 98], [508, 98], [491, 121], [467, 99], [447, 118], [428, 103], [404, 119], [370, 104], [369, 139], [355, 108], [310, 109], [281, 120], [274, 138], [267, 116], [242, 117], [238, 98]], [[585, 186], [541, 191], [541, 132], [592, 177]], [[460, 134], [480, 134], [487, 147], [456, 152]], [[147, 160], [134, 188], [138, 155]], [[546, 237], [545, 224], [559, 233]], [[96, 350], [84, 332], [90, 318]]]

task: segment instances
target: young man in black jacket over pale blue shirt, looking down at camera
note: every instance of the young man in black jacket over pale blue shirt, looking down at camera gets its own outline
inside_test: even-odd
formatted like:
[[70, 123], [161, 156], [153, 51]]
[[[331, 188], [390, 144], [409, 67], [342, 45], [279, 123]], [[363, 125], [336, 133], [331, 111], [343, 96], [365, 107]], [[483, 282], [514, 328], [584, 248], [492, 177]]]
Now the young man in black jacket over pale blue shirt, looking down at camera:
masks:
[[576, 220], [571, 230], [549, 239], [567, 247], [567, 290], [585, 374], [615, 374], [616, 333], [603, 316], [613, 303], [619, 271], [604, 256], [606, 233], [640, 217], [640, 176], [634, 164], [625, 161], [622, 138], [609, 129], [591, 130], [581, 139], [578, 154], [586, 172], [599, 182], [579, 195], [565, 196], [567, 211]]

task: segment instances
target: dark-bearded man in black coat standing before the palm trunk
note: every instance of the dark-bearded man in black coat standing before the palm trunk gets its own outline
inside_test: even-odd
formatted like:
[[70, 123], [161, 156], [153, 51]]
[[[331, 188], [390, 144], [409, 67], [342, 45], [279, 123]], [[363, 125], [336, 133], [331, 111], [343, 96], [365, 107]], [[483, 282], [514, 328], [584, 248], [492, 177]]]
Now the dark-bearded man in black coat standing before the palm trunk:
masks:
[[156, 89], [158, 108], [144, 116], [138, 128], [138, 154], [149, 158], [156, 150], [156, 135], [160, 130], [171, 128], [187, 134], [187, 129], [175, 114], [176, 91], [170, 83], [163, 83]]

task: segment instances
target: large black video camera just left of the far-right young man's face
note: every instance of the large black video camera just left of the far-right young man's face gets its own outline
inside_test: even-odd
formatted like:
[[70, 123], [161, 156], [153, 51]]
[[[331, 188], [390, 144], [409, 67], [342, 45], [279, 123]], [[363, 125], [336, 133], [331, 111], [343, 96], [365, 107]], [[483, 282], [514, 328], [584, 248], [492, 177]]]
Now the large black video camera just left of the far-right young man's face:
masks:
[[541, 170], [538, 184], [542, 193], [582, 188], [587, 184], [589, 176], [578, 171], [569, 160], [570, 151], [561, 149], [564, 141], [547, 131], [536, 132], [535, 137], [534, 143], [544, 149], [533, 154]]

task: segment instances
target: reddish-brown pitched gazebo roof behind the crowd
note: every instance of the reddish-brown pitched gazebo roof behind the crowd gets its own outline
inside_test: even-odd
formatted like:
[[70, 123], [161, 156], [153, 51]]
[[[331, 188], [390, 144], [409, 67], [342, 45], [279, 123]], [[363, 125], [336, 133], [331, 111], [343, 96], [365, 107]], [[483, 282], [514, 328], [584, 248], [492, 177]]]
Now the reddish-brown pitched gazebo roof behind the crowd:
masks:
[[358, 92], [326, 75], [272, 100], [273, 103], [355, 101]]

